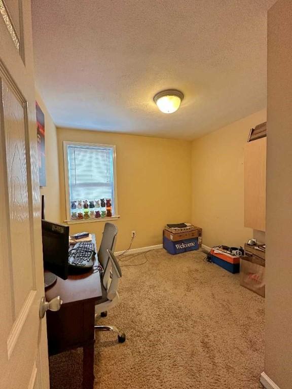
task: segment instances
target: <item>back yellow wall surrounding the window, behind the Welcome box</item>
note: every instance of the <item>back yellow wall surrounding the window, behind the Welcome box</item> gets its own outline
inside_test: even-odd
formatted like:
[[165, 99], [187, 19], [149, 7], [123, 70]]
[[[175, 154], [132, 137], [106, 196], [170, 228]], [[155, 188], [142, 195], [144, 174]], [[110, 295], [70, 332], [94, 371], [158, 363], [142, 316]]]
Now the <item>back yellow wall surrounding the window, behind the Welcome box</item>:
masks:
[[[65, 214], [63, 145], [65, 141], [116, 145], [118, 209], [116, 250], [162, 243], [166, 223], [191, 218], [191, 142], [125, 134], [58, 129], [61, 217]], [[101, 237], [103, 221], [70, 225], [70, 234], [90, 231]]]

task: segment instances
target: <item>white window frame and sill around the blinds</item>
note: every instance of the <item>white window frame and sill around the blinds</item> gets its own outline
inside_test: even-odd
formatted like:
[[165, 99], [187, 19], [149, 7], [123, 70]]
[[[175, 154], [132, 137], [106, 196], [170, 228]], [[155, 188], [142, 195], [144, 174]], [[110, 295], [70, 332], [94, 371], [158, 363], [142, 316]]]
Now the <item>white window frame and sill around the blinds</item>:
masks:
[[[70, 215], [70, 189], [69, 189], [69, 164], [68, 164], [68, 146], [88, 146], [88, 147], [106, 147], [113, 150], [113, 182], [114, 182], [114, 205], [115, 214], [111, 217], [101, 217], [97, 219], [71, 219]], [[102, 144], [102, 143], [84, 143], [84, 142], [71, 142], [63, 141], [63, 158], [64, 158], [64, 179], [65, 179], [65, 204], [66, 204], [66, 220], [67, 224], [76, 223], [90, 223], [98, 221], [117, 220], [120, 216], [118, 214], [118, 193], [117, 193], [117, 155], [116, 146], [114, 144]]]

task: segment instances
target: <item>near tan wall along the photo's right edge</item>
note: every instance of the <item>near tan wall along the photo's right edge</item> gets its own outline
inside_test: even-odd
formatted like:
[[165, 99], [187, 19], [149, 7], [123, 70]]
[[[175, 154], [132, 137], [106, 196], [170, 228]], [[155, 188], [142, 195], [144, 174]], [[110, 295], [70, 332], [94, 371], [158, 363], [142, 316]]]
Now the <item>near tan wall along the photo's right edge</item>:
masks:
[[292, 388], [291, 25], [292, 2], [279, 0], [268, 12], [265, 373], [281, 389]]

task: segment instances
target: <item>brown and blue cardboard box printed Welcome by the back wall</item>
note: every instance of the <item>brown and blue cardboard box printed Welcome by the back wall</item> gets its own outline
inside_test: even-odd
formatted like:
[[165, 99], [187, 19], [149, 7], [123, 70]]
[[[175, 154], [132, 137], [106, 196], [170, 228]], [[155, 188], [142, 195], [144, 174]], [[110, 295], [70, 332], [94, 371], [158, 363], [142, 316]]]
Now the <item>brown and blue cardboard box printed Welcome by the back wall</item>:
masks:
[[190, 226], [173, 229], [166, 227], [163, 230], [163, 248], [172, 255], [198, 250], [202, 245], [202, 228]]

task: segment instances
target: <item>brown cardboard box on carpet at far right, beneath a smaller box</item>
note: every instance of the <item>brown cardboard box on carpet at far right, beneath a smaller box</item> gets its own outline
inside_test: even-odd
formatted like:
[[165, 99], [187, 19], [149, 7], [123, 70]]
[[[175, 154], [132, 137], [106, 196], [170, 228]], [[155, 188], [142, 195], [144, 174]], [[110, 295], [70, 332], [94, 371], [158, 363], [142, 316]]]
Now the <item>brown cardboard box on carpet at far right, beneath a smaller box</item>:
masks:
[[241, 258], [239, 282], [245, 288], [265, 297], [265, 267], [257, 263], [257, 258], [253, 256]]

